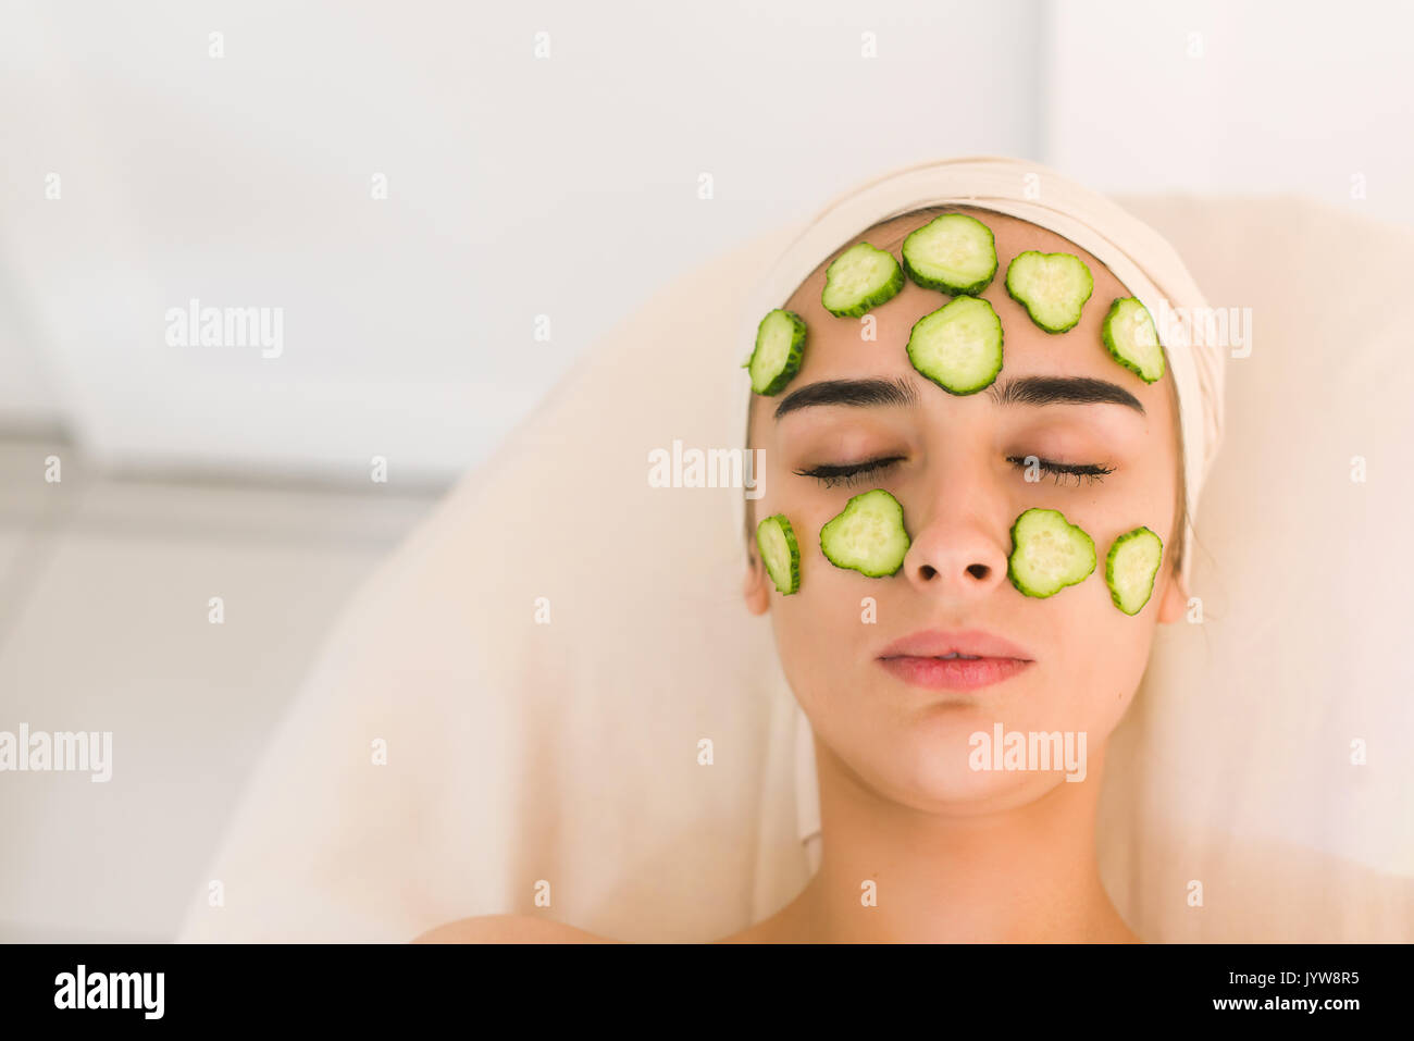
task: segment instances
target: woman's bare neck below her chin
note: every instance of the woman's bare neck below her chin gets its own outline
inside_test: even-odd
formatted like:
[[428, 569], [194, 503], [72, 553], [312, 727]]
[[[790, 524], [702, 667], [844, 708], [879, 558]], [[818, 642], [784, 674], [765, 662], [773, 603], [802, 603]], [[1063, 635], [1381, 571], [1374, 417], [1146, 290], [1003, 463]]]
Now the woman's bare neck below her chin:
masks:
[[[1100, 883], [1086, 779], [1017, 808], [950, 816], [880, 796], [816, 740], [823, 853], [800, 894], [814, 942], [1133, 942]], [[861, 902], [871, 880], [877, 904]]]

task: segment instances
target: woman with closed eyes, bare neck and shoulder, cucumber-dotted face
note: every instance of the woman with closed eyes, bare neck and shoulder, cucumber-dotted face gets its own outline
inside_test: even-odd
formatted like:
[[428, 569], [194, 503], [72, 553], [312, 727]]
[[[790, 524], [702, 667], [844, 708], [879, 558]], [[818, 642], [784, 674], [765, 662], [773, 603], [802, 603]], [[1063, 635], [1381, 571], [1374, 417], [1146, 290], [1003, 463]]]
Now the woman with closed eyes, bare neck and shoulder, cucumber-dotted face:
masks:
[[[905, 349], [953, 296], [909, 277], [864, 315], [831, 314], [822, 298], [850, 246], [901, 257], [905, 238], [945, 212], [976, 218], [995, 245], [995, 277], [976, 296], [1000, 320], [1004, 361], [980, 392], [950, 393]], [[1042, 328], [1007, 290], [1028, 250], [1079, 257], [1093, 280], [1066, 331]], [[1196, 485], [1172, 366], [1150, 382], [1103, 344], [1111, 301], [1135, 293], [1045, 226], [943, 205], [860, 231], [779, 301], [807, 337], [785, 386], [749, 395], [748, 444], [766, 468], [764, 496], [747, 505], [744, 594], [769, 612], [814, 731], [823, 849], [790, 904], [721, 942], [1138, 941], [1100, 883], [1096, 805], [1155, 627], [1184, 617]], [[1199, 481], [1212, 450], [1200, 446]], [[899, 504], [908, 537], [898, 570], [880, 577], [831, 560], [820, 537], [871, 489]], [[1058, 511], [1096, 554], [1093, 573], [1051, 595], [1025, 594], [1010, 567], [1012, 525], [1034, 508]], [[758, 552], [756, 526], [772, 516], [797, 543], [789, 593]], [[1130, 614], [1106, 556], [1140, 528], [1162, 559]], [[947, 651], [978, 661], [943, 663]], [[1004, 767], [991, 745], [1008, 734], [1059, 735], [1068, 758]], [[419, 939], [604, 942], [515, 915]]]

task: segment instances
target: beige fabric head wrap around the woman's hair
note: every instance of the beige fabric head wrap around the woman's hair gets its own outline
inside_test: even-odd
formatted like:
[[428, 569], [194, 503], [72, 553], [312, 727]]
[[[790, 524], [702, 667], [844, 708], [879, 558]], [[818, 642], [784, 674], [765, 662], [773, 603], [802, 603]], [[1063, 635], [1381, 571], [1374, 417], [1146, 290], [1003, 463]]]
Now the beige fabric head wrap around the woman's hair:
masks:
[[[1188, 515], [1196, 516], [1198, 496], [1222, 440], [1223, 347], [1192, 342], [1181, 322], [1165, 315], [1196, 315], [1206, 307], [1174, 248], [1110, 199], [1027, 160], [1001, 156], [950, 158], [902, 167], [836, 197], [790, 240], [762, 273], [742, 314], [738, 359], [755, 342], [768, 311], [783, 307], [822, 260], [871, 225], [912, 209], [935, 205], [976, 205], [1049, 228], [1087, 249], [1138, 297], [1158, 328], [1168, 372], [1178, 392], [1185, 451]], [[1200, 324], [1199, 324], [1200, 327]], [[745, 437], [751, 379], [741, 369], [741, 390], [732, 396], [734, 430]], [[735, 537], [745, 525], [745, 501], [735, 496]], [[1182, 584], [1193, 559], [1192, 526], [1185, 520]]]

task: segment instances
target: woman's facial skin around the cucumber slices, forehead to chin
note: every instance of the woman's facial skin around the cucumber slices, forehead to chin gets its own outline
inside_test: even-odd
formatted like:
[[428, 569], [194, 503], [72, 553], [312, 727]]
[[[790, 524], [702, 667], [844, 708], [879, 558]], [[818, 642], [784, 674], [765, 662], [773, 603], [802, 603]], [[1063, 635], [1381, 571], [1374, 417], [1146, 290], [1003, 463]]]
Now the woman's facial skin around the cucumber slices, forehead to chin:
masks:
[[[895, 802], [967, 813], [1029, 802], [1065, 782], [1056, 769], [973, 769], [970, 735], [993, 735], [998, 723], [1005, 733], [1083, 733], [1089, 765], [1099, 764], [1144, 673], [1157, 622], [1182, 617], [1185, 594], [1169, 557], [1178, 535], [1172, 375], [1145, 383], [1100, 339], [1110, 301], [1130, 293], [1059, 235], [956, 209], [995, 236], [997, 274], [981, 297], [1001, 318], [1001, 372], [987, 390], [947, 393], [912, 368], [905, 344], [913, 322], [950, 297], [906, 281], [865, 315], [877, 322], [875, 338], [865, 339], [865, 320], [836, 318], [820, 304], [822, 264], [785, 304], [809, 330], [800, 371], [779, 395], [754, 395], [751, 405], [751, 444], [765, 450], [766, 467], [754, 520], [773, 513], [790, 520], [800, 587], [776, 593], [754, 553], [745, 593], [754, 612], [771, 611], [785, 675], [820, 741], [848, 769]], [[899, 218], [854, 242], [867, 239], [898, 257], [902, 238], [932, 216]], [[1028, 249], [1075, 253], [1090, 269], [1094, 291], [1068, 332], [1045, 332], [1007, 296], [1007, 264]], [[1143, 412], [1114, 400], [998, 400], [1005, 385], [1038, 376], [1103, 380]], [[902, 400], [795, 407], [792, 395], [826, 380], [895, 383]], [[1079, 389], [1086, 386], [1092, 397], [1107, 390], [1097, 383]], [[1028, 455], [1111, 472], [1027, 481]], [[898, 461], [851, 482], [797, 472], [892, 457]], [[820, 528], [870, 488], [902, 504], [912, 539], [902, 569], [884, 578], [836, 567], [820, 550]], [[1094, 571], [1049, 598], [1027, 597], [1007, 577], [1011, 525], [1032, 506], [1060, 511], [1094, 540]], [[1140, 525], [1164, 540], [1164, 559], [1148, 603], [1127, 615], [1110, 598], [1104, 557], [1116, 536]], [[993, 634], [1019, 646], [1029, 663], [990, 686], [956, 690], [881, 661], [895, 641], [936, 629]]]

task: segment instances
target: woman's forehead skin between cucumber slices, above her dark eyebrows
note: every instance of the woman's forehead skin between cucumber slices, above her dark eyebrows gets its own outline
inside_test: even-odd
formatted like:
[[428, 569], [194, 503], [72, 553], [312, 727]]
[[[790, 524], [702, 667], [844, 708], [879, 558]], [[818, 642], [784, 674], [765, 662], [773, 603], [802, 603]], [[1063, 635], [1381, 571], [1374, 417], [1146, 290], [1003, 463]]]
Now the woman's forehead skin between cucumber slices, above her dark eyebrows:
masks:
[[[799, 314], [807, 330], [805, 361], [792, 380], [792, 388], [805, 386], [819, 379], [848, 379], [863, 376], [895, 378], [905, 376], [919, 383], [925, 402], [952, 399], [970, 402], [986, 399], [987, 395], [971, 395], [957, 399], [933, 386], [908, 361], [905, 345], [913, 322], [936, 311], [952, 297], [936, 290], [928, 290], [909, 279], [904, 289], [888, 303], [875, 307], [865, 318], [872, 317], [874, 339], [865, 339], [864, 318], [837, 318], [824, 310], [820, 293], [824, 289], [824, 274], [830, 262], [857, 242], [868, 242], [889, 250], [895, 259], [901, 256], [904, 238], [922, 228], [939, 212], [960, 212], [976, 216], [987, 225], [997, 243], [997, 273], [978, 296], [991, 304], [1003, 328], [1003, 368], [998, 382], [1010, 376], [1090, 376], [1104, 379], [1134, 395], [1148, 416], [1147, 424], [1171, 421], [1174, 407], [1167, 383], [1172, 375], [1165, 372], [1155, 383], [1145, 383], [1134, 372], [1116, 362], [1106, 351], [1100, 338], [1100, 327], [1110, 304], [1130, 291], [1089, 250], [1076, 246], [1069, 239], [1028, 221], [987, 209], [971, 207], [947, 207], [946, 211], [894, 218], [841, 243], [826, 257], [814, 272], [790, 296], [785, 307]], [[1080, 321], [1066, 332], [1046, 332], [1032, 322], [1027, 308], [1007, 294], [1007, 264], [1028, 249], [1044, 253], [1073, 253], [1090, 269], [1094, 289], [1080, 311]], [[792, 389], [788, 388], [788, 389]], [[752, 397], [761, 397], [754, 395]], [[752, 413], [773, 409], [781, 395], [752, 402]], [[971, 406], [969, 406], [971, 407]], [[1143, 419], [1143, 417], [1137, 417]]]

